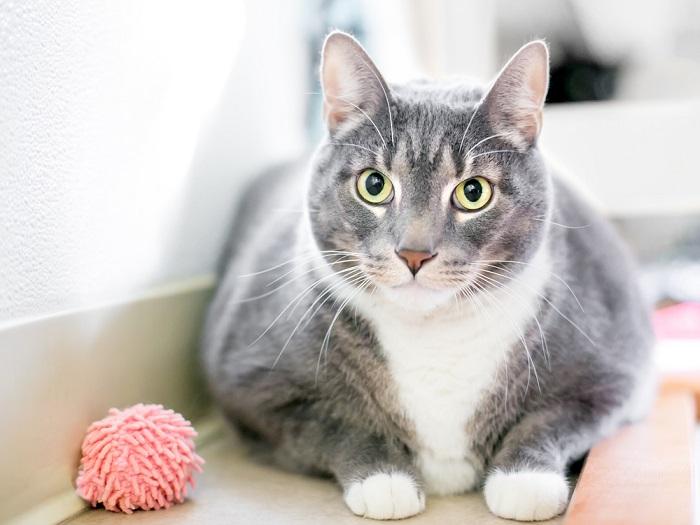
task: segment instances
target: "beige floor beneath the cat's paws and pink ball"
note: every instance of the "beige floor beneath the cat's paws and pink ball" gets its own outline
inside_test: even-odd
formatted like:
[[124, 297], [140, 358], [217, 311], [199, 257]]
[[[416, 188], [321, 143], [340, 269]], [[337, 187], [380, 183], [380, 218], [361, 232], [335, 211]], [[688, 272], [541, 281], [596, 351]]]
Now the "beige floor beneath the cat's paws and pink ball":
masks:
[[[261, 524], [368, 525], [343, 504], [336, 485], [327, 480], [282, 472], [248, 459], [230, 435], [201, 447], [205, 470], [185, 503], [168, 510], [136, 512], [131, 516], [90, 509], [64, 525]], [[425, 513], [402, 524], [507, 524], [491, 515], [480, 494], [429, 498]], [[546, 523], [561, 523], [561, 519]]]

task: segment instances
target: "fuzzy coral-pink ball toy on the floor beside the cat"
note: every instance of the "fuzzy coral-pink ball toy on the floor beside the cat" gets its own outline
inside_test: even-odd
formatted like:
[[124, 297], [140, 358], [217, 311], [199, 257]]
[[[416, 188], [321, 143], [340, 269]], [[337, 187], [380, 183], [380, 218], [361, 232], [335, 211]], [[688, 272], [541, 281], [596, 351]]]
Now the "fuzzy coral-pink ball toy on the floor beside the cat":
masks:
[[127, 514], [182, 502], [204, 463], [194, 450], [196, 435], [189, 421], [162, 405], [112, 408], [87, 430], [77, 493], [93, 507]]

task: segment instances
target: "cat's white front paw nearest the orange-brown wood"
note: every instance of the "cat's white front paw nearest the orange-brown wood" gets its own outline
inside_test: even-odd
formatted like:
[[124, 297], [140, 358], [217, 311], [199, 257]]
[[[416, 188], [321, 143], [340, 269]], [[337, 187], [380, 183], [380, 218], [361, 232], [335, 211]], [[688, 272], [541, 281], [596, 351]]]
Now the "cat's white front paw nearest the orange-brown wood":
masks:
[[566, 478], [557, 472], [497, 470], [484, 487], [489, 510], [518, 521], [539, 521], [561, 514], [569, 499]]

